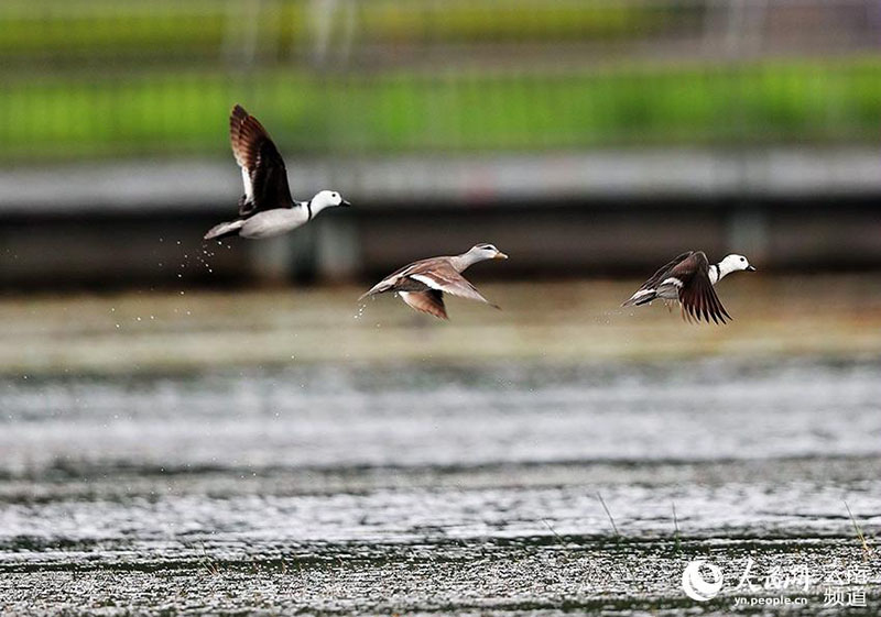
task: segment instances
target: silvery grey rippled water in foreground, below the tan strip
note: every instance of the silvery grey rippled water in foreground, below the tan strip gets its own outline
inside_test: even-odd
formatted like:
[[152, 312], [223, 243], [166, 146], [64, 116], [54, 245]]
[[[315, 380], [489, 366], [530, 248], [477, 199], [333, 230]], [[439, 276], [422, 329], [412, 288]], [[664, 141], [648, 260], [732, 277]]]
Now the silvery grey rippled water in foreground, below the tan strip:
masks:
[[6, 379], [0, 606], [725, 613], [683, 596], [692, 557], [863, 563], [845, 502], [881, 529], [879, 377], [715, 360]]

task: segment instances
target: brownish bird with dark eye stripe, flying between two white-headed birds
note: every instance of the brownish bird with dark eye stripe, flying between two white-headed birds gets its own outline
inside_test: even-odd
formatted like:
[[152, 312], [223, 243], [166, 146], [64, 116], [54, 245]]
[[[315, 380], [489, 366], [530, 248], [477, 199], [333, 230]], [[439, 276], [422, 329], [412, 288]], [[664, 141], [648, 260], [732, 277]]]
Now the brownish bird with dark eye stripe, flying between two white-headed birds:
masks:
[[499, 308], [481, 296], [461, 273], [477, 262], [507, 258], [508, 255], [492, 244], [476, 244], [461, 255], [431, 257], [413, 262], [377, 283], [372, 289], [358, 298], [358, 301], [377, 294], [396, 291], [401, 299], [412, 308], [440, 319], [447, 319], [444, 306], [445, 293]]

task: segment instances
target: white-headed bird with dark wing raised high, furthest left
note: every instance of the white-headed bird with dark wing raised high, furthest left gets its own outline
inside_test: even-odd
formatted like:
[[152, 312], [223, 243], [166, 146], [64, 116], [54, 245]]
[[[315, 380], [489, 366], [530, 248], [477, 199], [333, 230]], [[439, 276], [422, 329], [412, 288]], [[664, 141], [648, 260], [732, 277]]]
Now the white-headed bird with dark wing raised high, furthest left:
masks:
[[241, 167], [244, 195], [239, 198], [238, 218], [213, 227], [205, 240], [230, 235], [272, 238], [306, 224], [325, 208], [349, 206], [335, 190], [322, 190], [308, 201], [295, 201], [282, 155], [257, 118], [238, 104], [229, 115], [229, 141]]

